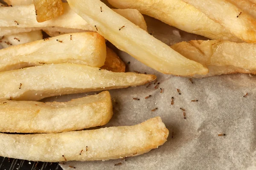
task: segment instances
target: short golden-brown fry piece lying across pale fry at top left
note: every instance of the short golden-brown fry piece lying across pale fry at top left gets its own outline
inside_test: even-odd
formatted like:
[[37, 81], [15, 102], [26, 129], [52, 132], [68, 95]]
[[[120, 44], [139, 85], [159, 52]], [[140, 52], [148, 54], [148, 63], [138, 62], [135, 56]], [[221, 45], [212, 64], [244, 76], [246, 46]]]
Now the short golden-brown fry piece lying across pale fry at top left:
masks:
[[34, 0], [36, 20], [41, 23], [64, 13], [62, 0]]

